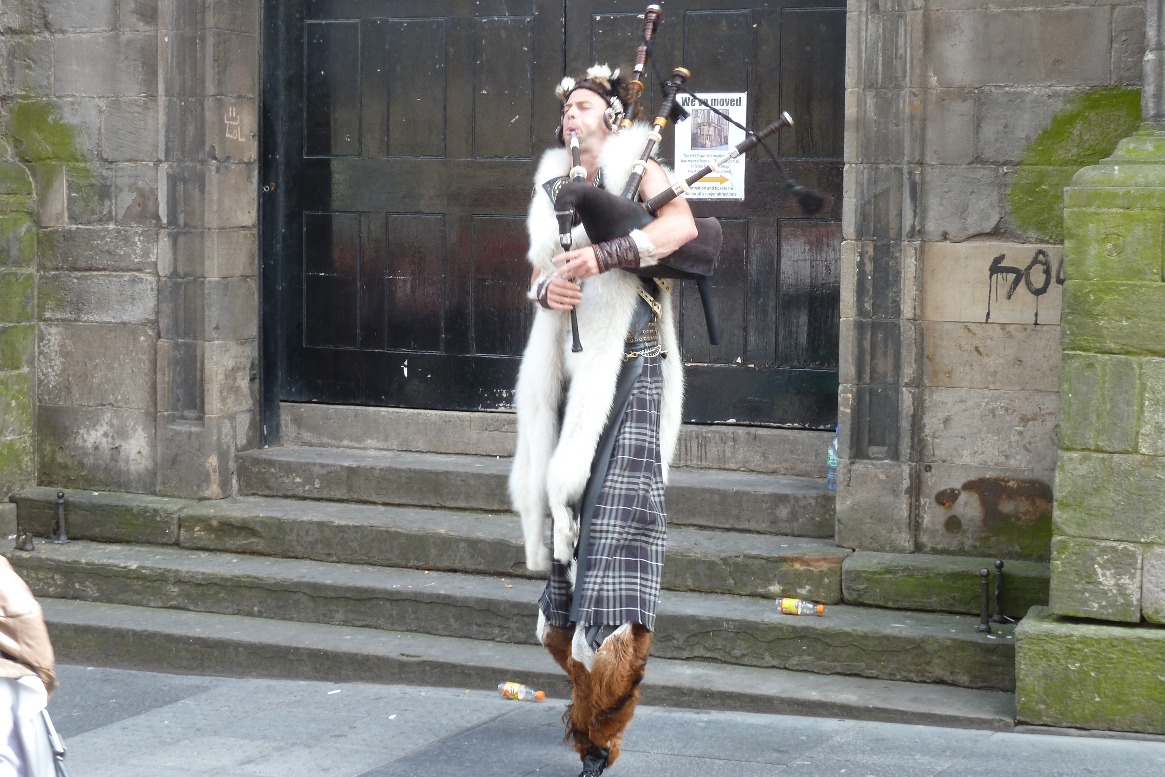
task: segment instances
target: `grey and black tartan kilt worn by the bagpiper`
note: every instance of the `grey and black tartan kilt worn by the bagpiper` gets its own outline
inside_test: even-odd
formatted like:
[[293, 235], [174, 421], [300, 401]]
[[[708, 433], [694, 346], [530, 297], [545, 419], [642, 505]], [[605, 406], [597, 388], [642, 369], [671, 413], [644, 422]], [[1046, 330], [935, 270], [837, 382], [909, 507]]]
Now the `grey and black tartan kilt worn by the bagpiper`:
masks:
[[[579, 623], [585, 626], [641, 623], [655, 630], [668, 544], [659, 455], [662, 394], [659, 356], [644, 356], [591, 517], [591, 548], [579, 602]], [[549, 623], [571, 626], [571, 593], [566, 567], [553, 559], [538, 600]]]

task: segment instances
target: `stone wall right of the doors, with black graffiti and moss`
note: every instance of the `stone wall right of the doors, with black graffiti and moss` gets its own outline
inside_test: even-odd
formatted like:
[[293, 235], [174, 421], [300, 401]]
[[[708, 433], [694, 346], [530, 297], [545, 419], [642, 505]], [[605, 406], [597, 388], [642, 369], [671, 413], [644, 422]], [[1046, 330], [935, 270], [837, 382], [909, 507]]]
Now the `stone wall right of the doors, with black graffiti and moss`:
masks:
[[1143, 2], [849, 8], [839, 542], [1047, 560], [1060, 192], [1139, 120]]

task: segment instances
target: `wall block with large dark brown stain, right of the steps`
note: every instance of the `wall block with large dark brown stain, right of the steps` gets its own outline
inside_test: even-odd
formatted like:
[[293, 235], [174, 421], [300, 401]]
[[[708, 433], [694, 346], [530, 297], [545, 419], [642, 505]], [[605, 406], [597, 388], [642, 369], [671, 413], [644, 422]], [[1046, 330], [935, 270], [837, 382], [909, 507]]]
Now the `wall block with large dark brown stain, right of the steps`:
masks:
[[1046, 561], [1052, 539], [1053, 474], [1044, 469], [923, 465], [916, 549], [944, 556]]

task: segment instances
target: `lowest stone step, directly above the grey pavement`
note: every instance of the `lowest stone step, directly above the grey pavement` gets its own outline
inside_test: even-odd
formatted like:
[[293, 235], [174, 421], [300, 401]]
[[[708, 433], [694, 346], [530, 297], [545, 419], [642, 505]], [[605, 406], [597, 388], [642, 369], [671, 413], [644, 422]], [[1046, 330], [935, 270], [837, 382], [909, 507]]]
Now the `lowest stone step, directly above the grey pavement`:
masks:
[[[41, 600], [61, 663], [227, 677], [492, 690], [567, 698], [545, 650], [479, 640], [59, 599]], [[1010, 730], [1015, 697], [924, 683], [652, 658], [643, 704]]]

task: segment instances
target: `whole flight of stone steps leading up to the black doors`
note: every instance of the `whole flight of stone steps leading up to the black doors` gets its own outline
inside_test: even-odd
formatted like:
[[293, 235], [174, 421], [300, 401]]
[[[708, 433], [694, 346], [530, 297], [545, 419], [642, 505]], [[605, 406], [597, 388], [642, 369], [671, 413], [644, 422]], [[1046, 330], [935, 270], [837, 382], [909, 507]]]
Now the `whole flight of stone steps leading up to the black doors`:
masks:
[[[673, 469], [645, 700], [1010, 728], [1012, 627], [977, 634], [965, 598], [929, 596], [932, 557], [912, 578], [902, 557], [838, 548], [832, 492], [788, 453], [821, 437], [685, 429], [680, 464], [734, 468]], [[543, 582], [508, 511], [511, 416], [285, 405], [284, 439], [240, 454], [227, 500], [66, 490], [77, 542], [6, 553], [45, 598], [62, 659], [567, 692], [537, 647]], [[424, 446], [438, 452], [409, 450]], [[21, 524], [44, 535], [56, 492], [14, 495]], [[961, 592], [979, 559], [959, 563], [941, 572]], [[1009, 609], [1038, 600], [1033, 566]], [[895, 585], [917, 609], [839, 603]], [[782, 616], [781, 595], [829, 607]]]

